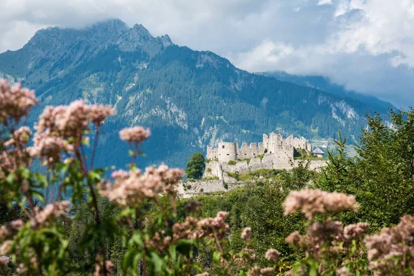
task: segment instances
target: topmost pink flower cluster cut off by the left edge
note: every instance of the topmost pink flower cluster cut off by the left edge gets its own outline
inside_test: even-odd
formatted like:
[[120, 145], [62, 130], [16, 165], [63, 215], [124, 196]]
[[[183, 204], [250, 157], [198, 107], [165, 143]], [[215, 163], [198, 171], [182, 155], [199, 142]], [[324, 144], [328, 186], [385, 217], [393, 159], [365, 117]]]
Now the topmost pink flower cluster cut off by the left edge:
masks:
[[34, 91], [21, 88], [20, 83], [10, 87], [7, 81], [0, 80], [0, 122], [5, 123], [7, 119], [19, 121], [21, 117], [27, 116], [30, 108], [37, 104]]

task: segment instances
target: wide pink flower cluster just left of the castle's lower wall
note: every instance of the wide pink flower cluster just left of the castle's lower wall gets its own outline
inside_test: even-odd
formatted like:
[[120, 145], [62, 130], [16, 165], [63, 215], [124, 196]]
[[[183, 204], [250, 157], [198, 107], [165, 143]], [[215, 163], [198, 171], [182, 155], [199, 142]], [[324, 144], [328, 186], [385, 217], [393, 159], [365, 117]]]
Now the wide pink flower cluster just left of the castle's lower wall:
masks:
[[158, 168], [148, 167], [144, 174], [141, 170], [112, 172], [115, 182], [101, 182], [99, 193], [121, 206], [136, 206], [144, 199], [155, 199], [159, 193], [176, 195], [175, 186], [184, 177], [184, 172], [178, 169], [168, 169], [161, 165]]

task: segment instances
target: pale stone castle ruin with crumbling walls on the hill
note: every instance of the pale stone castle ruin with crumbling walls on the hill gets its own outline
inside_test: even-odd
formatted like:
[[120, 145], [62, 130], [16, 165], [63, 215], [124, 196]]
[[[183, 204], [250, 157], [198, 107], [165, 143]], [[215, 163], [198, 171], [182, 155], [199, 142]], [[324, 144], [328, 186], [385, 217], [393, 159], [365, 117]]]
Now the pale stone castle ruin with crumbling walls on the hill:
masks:
[[[207, 146], [206, 168], [203, 179], [181, 181], [180, 197], [193, 197], [201, 193], [232, 190], [244, 186], [246, 182], [231, 177], [231, 173], [253, 172], [259, 169], [290, 170], [299, 164], [295, 160], [295, 151], [306, 150], [309, 155], [312, 145], [304, 137], [295, 138], [290, 135], [286, 139], [280, 134], [271, 132], [263, 135], [260, 143], [219, 142], [217, 148]], [[326, 166], [326, 161], [310, 160], [308, 168], [319, 170]], [[209, 180], [206, 180], [209, 179]]]

